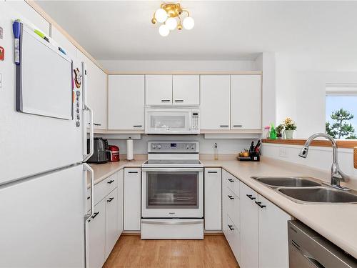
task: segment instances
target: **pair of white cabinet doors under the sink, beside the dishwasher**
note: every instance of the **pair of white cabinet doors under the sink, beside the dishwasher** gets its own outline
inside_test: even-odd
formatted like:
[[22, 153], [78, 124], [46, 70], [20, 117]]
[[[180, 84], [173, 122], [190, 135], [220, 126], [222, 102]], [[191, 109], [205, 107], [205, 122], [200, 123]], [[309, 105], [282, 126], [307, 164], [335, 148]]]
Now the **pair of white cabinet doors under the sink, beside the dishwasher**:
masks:
[[241, 268], [288, 268], [291, 216], [241, 183]]

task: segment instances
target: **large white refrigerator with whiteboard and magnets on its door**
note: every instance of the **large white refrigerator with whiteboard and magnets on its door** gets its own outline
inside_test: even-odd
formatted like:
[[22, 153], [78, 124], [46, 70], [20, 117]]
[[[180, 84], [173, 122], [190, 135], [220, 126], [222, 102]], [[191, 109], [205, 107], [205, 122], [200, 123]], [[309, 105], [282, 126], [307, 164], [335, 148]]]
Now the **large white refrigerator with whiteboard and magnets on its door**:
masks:
[[74, 59], [71, 71], [78, 68], [82, 77], [77, 73], [81, 83], [67, 107], [73, 119], [16, 111], [13, 19], [9, 10], [1, 11], [6, 58], [0, 61], [0, 267], [86, 267], [93, 170], [84, 160], [90, 155], [88, 121], [93, 149], [93, 120], [86, 121], [84, 113], [93, 114], [85, 111], [85, 66]]

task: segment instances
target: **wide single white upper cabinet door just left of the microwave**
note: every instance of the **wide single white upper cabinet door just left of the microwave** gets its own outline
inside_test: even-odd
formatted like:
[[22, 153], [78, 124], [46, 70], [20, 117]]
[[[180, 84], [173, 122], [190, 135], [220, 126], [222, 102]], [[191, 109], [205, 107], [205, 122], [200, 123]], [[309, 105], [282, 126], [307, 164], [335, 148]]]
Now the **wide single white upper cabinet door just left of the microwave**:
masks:
[[144, 75], [109, 76], [109, 129], [144, 129]]

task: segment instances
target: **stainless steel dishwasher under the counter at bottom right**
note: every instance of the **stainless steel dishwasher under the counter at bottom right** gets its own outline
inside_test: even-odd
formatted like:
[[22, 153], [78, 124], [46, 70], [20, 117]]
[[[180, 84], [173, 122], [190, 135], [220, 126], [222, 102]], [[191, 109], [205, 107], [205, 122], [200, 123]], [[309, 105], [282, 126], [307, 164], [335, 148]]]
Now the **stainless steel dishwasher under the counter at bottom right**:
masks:
[[288, 222], [288, 242], [290, 268], [357, 267], [357, 259], [301, 222]]

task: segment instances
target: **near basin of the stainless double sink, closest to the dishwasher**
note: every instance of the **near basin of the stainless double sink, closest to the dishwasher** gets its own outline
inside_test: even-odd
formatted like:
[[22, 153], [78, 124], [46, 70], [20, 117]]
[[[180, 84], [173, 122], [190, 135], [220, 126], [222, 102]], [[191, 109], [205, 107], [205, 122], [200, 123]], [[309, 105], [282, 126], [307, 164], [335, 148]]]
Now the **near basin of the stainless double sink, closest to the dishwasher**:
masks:
[[328, 187], [280, 188], [278, 192], [290, 197], [294, 202], [314, 203], [355, 203], [357, 195]]

